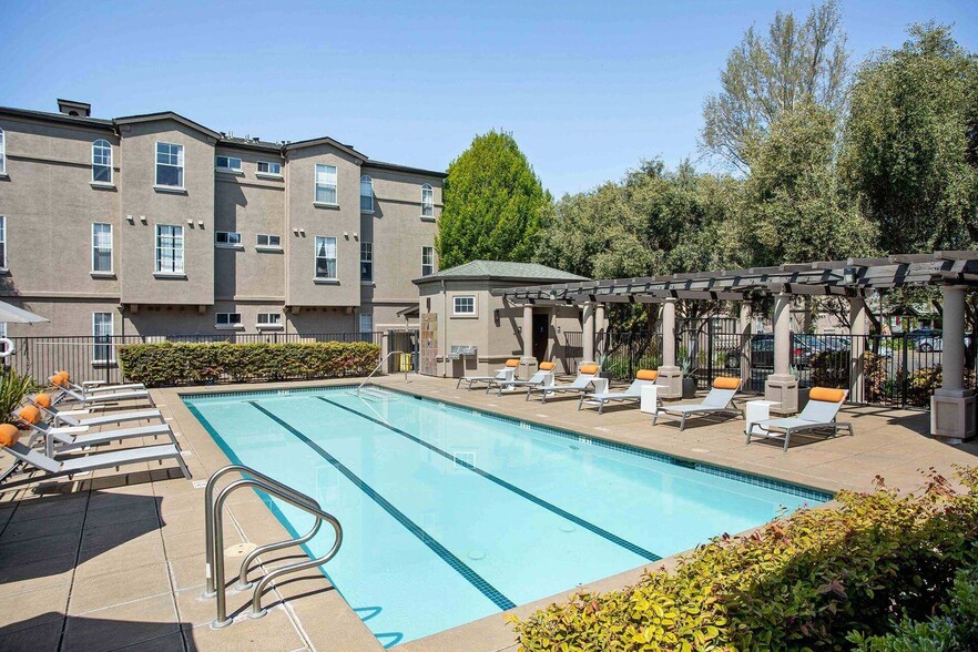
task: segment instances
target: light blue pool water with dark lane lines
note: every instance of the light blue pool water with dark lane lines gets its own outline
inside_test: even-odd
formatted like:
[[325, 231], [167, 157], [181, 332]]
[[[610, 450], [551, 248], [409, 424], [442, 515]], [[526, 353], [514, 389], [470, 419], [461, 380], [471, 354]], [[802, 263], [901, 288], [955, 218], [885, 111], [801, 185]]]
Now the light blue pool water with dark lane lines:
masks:
[[[232, 460], [313, 496], [339, 519], [343, 547], [324, 570], [385, 645], [828, 499], [394, 393], [183, 398]], [[275, 508], [296, 531], [312, 524], [291, 506]], [[324, 528], [308, 547], [322, 554], [332, 543]]]

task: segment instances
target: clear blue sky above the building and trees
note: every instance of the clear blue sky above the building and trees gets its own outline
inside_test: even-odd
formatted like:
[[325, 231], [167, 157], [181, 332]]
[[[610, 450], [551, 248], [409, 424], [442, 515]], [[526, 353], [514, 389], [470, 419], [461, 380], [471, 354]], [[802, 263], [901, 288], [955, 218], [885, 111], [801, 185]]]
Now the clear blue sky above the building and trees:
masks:
[[[697, 156], [704, 96], [744, 30], [811, 2], [0, 0], [0, 105], [173, 110], [265, 140], [330, 135], [444, 170], [511, 131], [556, 195]], [[844, 0], [856, 61], [936, 19], [978, 51], [978, 0]], [[700, 162], [701, 167], [709, 167]]]

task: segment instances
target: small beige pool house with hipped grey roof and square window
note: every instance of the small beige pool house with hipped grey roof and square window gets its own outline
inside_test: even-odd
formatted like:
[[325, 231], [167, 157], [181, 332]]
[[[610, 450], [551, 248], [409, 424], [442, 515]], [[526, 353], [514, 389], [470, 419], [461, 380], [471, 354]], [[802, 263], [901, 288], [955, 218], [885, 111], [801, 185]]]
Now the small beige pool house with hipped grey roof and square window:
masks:
[[497, 261], [472, 261], [416, 278], [419, 371], [455, 378], [488, 374], [507, 359], [520, 358], [526, 376], [540, 361], [566, 359], [563, 335], [582, 330], [580, 306], [512, 305], [490, 291], [580, 281], [587, 278], [546, 265]]

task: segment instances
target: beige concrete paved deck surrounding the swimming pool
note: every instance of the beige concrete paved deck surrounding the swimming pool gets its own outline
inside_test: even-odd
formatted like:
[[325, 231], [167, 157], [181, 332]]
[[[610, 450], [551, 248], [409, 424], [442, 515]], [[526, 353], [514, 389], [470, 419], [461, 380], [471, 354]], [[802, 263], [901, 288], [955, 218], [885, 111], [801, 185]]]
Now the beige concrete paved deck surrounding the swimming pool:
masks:
[[[230, 592], [228, 612], [235, 622], [222, 630], [210, 628], [214, 601], [200, 599], [204, 583], [202, 481], [230, 462], [179, 394], [350, 383], [153, 390], [177, 434], [194, 481], [180, 478], [173, 463], [154, 463], [105, 469], [72, 481], [49, 481], [0, 493], [0, 597], [7, 603], [0, 617], [0, 650], [380, 650], [359, 617], [315, 570], [277, 582], [264, 598], [268, 614], [262, 619], [246, 615], [249, 593]], [[456, 389], [455, 380], [448, 379], [412, 376], [406, 384], [398, 376], [380, 378], [377, 384], [828, 491], [869, 490], [877, 475], [890, 487], [911, 491], [920, 485], [921, 468], [934, 467], [949, 475], [955, 463], [978, 463], [978, 445], [951, 447], [929, 438], [929, 415], [921, 411], [848, 407], [841, 418], [854, 425], [855, 436], [828, 440], [797, 437], [791, 449], [782, 452], [780, 442], [745, 446], [740, 419], [701, 419], [680, 432], [672, 422], [653, 428], [650, 416], [635, 406], [610, 406], [599, 415], [594, 409], [578, 411], [575, 398], [541, 405], [539, 400], [526, 401], [524, 395], [497, 397]], [[0, 466], [8, 460], [4, 456]], [[34, 491], [39, 486], [42, 490]], [[233, 550], [236, 544], [287, 538], [252, 491], [232, 495], [227, 513], [228, 575], [234, 575], [241, 561], [235, 557], [240, 552]], [[273, 568], [295, 561], [294, 554], [294, 550], [281, 551], [262, 562], [266, 569]], [[621, 588], [634, 583], [641, 572], [642, 568], [633, 569], [589, 588]], [[569, 593], [520, 605], [512, 612], [524, 617]], [[489, 652], [516, 650], [516, 644], [511, 628], [497, 614], [395, 649]]]

